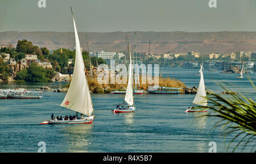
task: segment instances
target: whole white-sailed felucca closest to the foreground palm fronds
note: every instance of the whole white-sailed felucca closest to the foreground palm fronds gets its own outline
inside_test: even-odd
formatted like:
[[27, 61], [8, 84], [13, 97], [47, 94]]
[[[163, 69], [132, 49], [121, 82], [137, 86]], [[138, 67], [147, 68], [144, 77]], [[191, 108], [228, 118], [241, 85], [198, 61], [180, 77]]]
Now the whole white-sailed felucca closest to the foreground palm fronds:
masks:
[[[204, 85], [203, 64], [201, 64], [200, 66], [201, 66], [201, 69], [199, 70], [199, 73], [201, 77], [200, 77], [199, 87], [197, 89], [195, 99], [193, 100], [192, 103], [197, 104], [199, 106], [206, 107], [207, 99], [205, 99], [205, 96], [207, 94], [206, 94], [205, 85]], [[192, 108], [188, 108], [185, 112], [207, 112], [207, 110], [197, 109], [195, 107], [192, 107]]]

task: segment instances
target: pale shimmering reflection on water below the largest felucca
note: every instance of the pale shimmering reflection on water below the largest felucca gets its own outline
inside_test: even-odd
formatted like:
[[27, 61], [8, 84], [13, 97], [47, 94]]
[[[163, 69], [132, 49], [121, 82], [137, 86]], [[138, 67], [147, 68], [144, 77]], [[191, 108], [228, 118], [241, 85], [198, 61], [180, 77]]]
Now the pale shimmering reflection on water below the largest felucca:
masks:
[[[67, 136], [67, 152], [88, 152], [88, 145], [92, 144], [92, 124], [74, 124], [63, 128]], [[63, 143], [65, 144], [65, 143]]]

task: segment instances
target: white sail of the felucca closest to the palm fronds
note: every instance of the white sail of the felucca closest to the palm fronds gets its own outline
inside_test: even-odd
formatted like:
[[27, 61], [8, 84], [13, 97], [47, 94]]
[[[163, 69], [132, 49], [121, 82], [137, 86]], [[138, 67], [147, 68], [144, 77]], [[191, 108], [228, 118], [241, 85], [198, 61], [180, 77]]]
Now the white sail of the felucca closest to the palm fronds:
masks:
[[204, 85], [203, 65], [201, 65], [201, 69], [199, 70], [199, 73], [201, 75], [201, 78], [200, 78], [199, 87], [197, 89], [197, 93], [196, 93], [195, 99], [193, 100], [193, 103], [200, 106], [207, 106], [207, 99], [204, 98], [206, 96], [206, 91], [205, 91], [205, 85]]

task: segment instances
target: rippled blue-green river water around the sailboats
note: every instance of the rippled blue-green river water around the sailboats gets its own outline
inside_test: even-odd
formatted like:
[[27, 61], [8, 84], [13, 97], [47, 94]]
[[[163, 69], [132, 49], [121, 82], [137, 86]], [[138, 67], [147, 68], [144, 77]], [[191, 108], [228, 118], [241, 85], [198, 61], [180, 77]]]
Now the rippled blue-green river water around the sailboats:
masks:
[[[174, 77], [188, 87], [199, 85], [198, 69], [165, 68], [164, 77]], [[245, 74], [246, 75], [246, 74]], [[247, 74], [256, 80], [256, 74]], [[205, 86], [223, 91], [214, 81], [233, 84], [233, 91], [256, 100], [256, 92], [248, 79], [238, 74], [204, 70]], [[0, 83], [0, 88], [23, 87], [52, 89], [67, 83]], [[73, 115], [57, 106], [65, 93], [43, 92], [42, 99], [0, 100], [0, 152], [38, 152], [38, 143], [46, 143], [46, 152], [208, 152], [214, 141], [217, 152], [226, 152], [233, 136], [221, 136], [212, 129], [217, 119], [196, 119], [202, 113], [185, 113], [195, 95], [135, 95], [137, 111], [112, 113], [113, 104], [122, 103], [125, 95], [92, 94], [95, 119], [93, 124], [39, 125], [51, 114]], [[234, 141], [237, 144], [240, 138]], [[232, 144], [234, 146], [234, 144]], [[250, 152], [251, 143], [244, 152]], [[231, 147], [233, 148], [233, 147]], [[238, 148], [238, 152], [242, 147]], [[230, 149], [229, 151], [231, 151]]]

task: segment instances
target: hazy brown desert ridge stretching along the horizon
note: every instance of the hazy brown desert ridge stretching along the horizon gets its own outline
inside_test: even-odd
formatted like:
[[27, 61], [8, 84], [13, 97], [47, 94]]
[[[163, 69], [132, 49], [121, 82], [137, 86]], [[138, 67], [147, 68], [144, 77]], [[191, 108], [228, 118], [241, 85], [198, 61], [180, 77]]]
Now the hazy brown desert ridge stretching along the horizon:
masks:
[[[149, 40], [151, 54], [167, 52], [230, 53], [236, 51], [256, 51], [256, 32], [141, 32], [137, 33], [137, 52], [148, 52]], [[88, 32], [89, 50], [125, 51], [126, 36], [129, 34], [131, 46], [134, 45], [134, 32]], [[81, 47], [87, 50], [85, 32], [79, 32]], [[48, 49], [75, 47], [74, 32], [0, 32], [0, 44], [13, 44], [27, 39], [38, 47]]]

